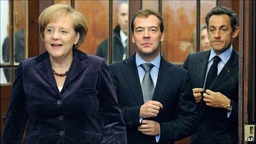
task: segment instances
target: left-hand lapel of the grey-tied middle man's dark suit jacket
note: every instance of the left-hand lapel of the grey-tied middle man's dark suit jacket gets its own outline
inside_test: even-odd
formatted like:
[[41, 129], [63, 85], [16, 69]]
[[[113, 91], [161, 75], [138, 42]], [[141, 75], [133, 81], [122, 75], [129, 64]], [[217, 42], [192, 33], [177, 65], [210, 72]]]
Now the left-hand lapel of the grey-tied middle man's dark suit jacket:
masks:
[[135, 55], [127, 58], [123, 61], [124, 67], [121, 67], [122, 74], [124, 75], [128, 86], [130, 87], [132, 94], [134, 95], [138, 105], [142, 105], [143, 96], [141, 90], [140, 79], [138, 77], [137, 66], [135, 62]]

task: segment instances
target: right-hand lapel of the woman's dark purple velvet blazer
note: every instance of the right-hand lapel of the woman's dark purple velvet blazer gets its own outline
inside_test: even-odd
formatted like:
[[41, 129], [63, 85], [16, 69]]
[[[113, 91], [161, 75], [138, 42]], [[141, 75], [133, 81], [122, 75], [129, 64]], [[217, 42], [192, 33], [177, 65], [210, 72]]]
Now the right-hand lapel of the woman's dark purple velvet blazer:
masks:
[[75, 79], [87, 67], [86, 63], [81, 61], [87, 58], [88, 56], [82, 54], [77, 49], [74, 49], [73, 52], [73, 61], [71, 63], [70, 69], [68, 70], [68, 74], [63, 87], [67, 87], [68, 84], [70, 84], [73, 81], [73, 79]]

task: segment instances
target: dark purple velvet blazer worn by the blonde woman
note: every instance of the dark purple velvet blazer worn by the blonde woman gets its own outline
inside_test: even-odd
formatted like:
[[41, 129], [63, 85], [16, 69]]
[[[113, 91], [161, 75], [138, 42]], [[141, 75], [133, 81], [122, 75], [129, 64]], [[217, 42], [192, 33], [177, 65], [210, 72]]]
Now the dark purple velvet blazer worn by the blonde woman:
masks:
[[28, 58], [13, 84], [3, 143], [126, 143], [126, 129], [105, 60], [74, 49], [59, 92], [49, 54]]

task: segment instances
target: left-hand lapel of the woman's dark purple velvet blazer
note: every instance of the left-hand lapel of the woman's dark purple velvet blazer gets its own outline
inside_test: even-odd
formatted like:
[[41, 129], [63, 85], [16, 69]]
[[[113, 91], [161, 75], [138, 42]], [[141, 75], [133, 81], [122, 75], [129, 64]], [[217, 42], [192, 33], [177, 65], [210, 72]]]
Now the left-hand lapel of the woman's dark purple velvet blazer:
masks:
[[36, 65], [36, 70], [38, 70], [45, 81], [48, 82], [50, 86], [56, 90], [57, 93], [60, 93], [57, 89], [54, 73], [52, 72], [49, 54], [45, 52], [44, 54], [39, 55], [36, 57], [36, 61], [40, 62], [38, 65]]

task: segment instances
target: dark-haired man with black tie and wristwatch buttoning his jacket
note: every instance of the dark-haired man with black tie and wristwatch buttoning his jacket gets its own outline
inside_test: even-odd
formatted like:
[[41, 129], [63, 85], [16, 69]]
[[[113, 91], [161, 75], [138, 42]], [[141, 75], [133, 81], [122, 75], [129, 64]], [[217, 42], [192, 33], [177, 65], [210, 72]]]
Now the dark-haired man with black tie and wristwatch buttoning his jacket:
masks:
[[191, 143], [237, 143], [238, 54], [232, 46], [239, 30], [237, 15], [215, 7], [205, 21], [212, 48], [190, 54], [183, 65], [191, 76], [200, 119]]

